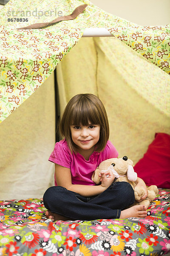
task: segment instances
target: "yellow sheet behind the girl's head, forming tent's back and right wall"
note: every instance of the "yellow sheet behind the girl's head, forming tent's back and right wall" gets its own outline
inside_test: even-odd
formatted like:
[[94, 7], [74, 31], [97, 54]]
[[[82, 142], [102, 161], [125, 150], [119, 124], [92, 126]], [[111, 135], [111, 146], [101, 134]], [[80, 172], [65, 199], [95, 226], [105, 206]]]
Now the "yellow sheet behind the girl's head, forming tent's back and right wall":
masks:
[[170, 76], [117, 38], [82, 38], [57, 67], [61, 113], [72, 96], [94, 93], [110, 140], [136, 163], [156, 132], [170, 134]]

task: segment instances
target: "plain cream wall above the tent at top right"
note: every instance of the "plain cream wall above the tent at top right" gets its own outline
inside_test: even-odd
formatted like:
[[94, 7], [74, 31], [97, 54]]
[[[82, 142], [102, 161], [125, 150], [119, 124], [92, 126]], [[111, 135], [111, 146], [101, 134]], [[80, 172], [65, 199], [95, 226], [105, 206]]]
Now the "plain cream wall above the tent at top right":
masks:
[[170, 0], [91, 0], [91, 3], [142, 26], [170, 23]]

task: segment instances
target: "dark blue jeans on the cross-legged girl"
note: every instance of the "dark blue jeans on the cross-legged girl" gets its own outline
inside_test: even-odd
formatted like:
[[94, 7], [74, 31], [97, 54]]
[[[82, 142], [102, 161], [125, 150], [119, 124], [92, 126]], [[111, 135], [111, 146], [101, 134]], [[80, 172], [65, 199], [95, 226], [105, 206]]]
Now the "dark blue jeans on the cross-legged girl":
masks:
[[84, 197], [61, 186], [48, 188], [43, 196], [45, 208], [70, 220], [119, 218], [121, 210], [134, 201], [132, 186], [127, 182], [113, 183], [93, 197]]

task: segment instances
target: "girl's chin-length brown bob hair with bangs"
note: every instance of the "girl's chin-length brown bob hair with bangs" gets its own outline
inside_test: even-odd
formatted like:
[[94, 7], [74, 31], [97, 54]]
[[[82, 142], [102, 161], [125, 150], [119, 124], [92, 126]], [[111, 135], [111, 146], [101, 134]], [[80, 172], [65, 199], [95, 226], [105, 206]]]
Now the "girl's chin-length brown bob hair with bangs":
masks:
[[100, 137], [95, 151], [102, 151], [109, 138], [109, 123], [105, 107], [101, 100], [91, 93], [75, 95], [65, 107], [59, 121], [59, 133], [65, 137], [71, 153], [76, 152], [76, 144], [71, 138], [71, 125], [100, 125]]

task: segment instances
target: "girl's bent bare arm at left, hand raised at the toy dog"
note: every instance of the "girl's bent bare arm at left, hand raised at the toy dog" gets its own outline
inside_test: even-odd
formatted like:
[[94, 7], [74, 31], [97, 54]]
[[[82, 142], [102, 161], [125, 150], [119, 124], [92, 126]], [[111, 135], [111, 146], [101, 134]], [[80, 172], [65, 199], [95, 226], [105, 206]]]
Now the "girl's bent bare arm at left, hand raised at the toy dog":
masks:
[[[114, 180], [114, 175], [111, 171], [101, 173], [102, 183], [98, 186], [91, 186], [91, 185], [78, 185], [71, 183], [71, 171], [69, 168], [60, 166], [55, 163], [55, 175], [57, 180], [57, 185], [65, 187], [68, 190], [73, 192], [77, 192], [82, 196], [95, 196], [101, 194], [105, 189], [107, 189]], [[109, 175], [106, 177], [106, 175]]]

